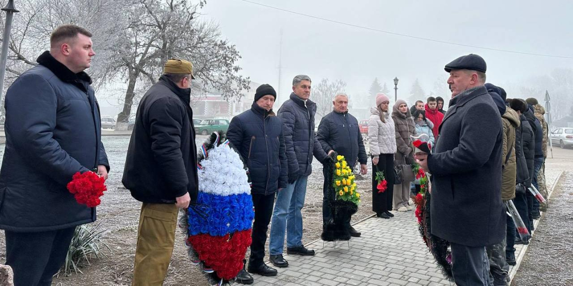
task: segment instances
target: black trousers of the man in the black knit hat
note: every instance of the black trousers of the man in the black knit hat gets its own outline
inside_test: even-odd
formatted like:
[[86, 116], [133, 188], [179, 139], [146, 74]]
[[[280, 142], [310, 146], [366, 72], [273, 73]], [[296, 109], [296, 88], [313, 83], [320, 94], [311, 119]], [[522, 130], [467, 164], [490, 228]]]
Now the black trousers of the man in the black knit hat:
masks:
[[[279, 191], [280, 192], [280, 191]], [[270, 217], [273, 215], [274, 194], [252, 194], [254, 221], [249, 267], [257, 268], [264, 264], [266, 231], [269, 229]]]

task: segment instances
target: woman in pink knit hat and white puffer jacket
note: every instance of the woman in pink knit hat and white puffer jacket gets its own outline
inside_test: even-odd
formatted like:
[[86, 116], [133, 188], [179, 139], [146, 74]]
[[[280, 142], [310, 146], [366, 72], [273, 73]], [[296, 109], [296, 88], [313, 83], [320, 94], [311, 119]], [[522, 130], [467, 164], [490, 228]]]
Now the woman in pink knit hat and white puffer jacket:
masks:
[[[368, 146], [372, 156], [372, 210], [376, 216], [390, 219], [394, 215], [392, 198], [394, 189], [394, 153], [396, 153], [396, 136], [394, 121], [389, 111], [390, 98], [386, 94], [376, 95], [376, 106], [370, 109], [368, 120]], [[379, 190], [376, 172], [381, 171], [386, 178], [386, 190]]]

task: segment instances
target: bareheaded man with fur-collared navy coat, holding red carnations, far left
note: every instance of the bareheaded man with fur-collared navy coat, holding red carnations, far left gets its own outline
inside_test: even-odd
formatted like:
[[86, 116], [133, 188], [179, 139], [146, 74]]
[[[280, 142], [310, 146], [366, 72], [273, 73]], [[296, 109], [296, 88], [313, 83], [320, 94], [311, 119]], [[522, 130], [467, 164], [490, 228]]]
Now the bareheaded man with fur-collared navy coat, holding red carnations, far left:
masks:
[[100, 110], [84, 72], [95, 53], [92, 34], [57, 27], [50, 51], [6, 93], [6, 150], [0, 172], [0, 228], [14, 285], [50, 285], [64, 263], [77, 225], [96, 220], [96, 208], [66, 189], [76, 172], [107, 178]]

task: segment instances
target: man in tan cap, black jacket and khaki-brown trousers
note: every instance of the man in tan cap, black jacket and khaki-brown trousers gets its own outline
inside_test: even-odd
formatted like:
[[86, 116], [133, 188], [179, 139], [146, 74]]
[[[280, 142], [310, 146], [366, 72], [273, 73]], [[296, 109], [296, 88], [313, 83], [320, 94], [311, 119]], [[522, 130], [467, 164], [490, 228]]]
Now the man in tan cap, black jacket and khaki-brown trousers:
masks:
[[139, 103], [123, 185], [143, 202], [132, 285], [162, 285], [171, 260], [179, 208], [197, 200], [197, 150], [189, 105], [193, 65], [165, 63]]

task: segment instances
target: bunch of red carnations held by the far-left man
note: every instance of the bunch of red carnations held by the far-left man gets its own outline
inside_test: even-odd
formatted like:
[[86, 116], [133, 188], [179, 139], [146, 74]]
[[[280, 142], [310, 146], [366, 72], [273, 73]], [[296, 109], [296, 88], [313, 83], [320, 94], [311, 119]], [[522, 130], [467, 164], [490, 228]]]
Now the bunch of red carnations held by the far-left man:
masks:
[[77, 202], [94, 208], [100, 204], [100, 197], [107, 190], [104, 182], [105, 178], [95, 172], [88, 171], [83, 174], [77, 172], [73, 175], [72, 181], [68, 183], [68, 190]]

